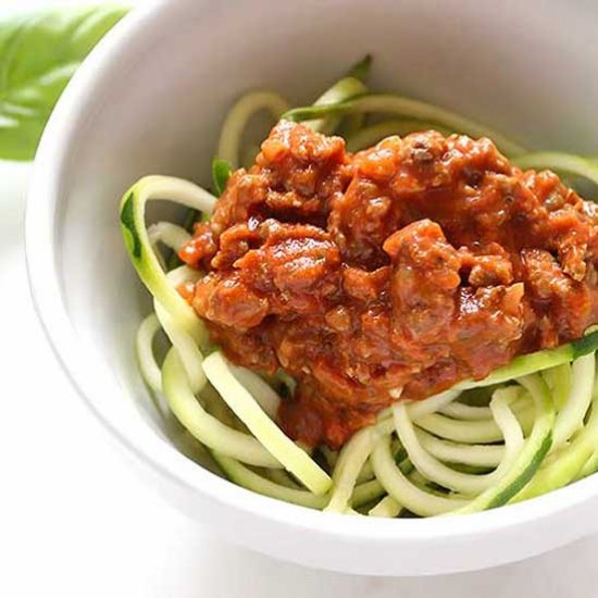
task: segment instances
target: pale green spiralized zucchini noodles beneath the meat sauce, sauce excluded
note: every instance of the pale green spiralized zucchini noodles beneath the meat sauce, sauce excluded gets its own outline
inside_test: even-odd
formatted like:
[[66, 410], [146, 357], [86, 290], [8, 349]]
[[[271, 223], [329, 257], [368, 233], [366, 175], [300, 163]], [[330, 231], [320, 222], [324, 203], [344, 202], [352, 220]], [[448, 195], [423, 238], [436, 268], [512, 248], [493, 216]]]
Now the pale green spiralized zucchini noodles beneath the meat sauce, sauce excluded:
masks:
[[[366, 57], [310, 107], [289, 110], [271, 90], [242, 96], [224, 119], [212, 164], [217, 195], [232, 170], [249, 166], [259, 151], [259, 140], [245, 137], [249, 121], [261, 111], [273, 121], [302, 121], [314, 130], [342, 135], [349, 151], [431, 128], [487, 136], [522, 169], [550, 169], [598, 185], [598, 166], [589, 159], [527, 153], [520, 144], [454, 112], [370, 92], [370, 62]], [[151, 200], [175, 202], [192, 216], [185, 226], [148, 225]], [[596, 329], [555, 349], [516, 357], [485, 379], [462, 381], [421, 401], [401, 401], [402, 389], [396, 388], [391, 396], [397, 402], [340, 451], [312, 450], [291, 440], [276, 420], [295, 381], [283, 371], [262, 376], [229, 363], [178, 292], [204, 274], [186, 265], [166, 266], [190, 239], [194, 221], [209, 220], [216, 202], [192, 183], [147, 176], [124, 195], [120, 220], [128, 257], [153, 296], [153, 312], [135, 340], [139, 372], [152, 394], [165, 399], [188, 441], [207, 449], [231, 482], [300, 507], [396, 519], [493, 509], [598, 471]], [[170, 341], [162, 363], [154, 352], [160, 332]], [[484, 387], [491, 388], [470, 404], [474, 399], [466, 391]]]

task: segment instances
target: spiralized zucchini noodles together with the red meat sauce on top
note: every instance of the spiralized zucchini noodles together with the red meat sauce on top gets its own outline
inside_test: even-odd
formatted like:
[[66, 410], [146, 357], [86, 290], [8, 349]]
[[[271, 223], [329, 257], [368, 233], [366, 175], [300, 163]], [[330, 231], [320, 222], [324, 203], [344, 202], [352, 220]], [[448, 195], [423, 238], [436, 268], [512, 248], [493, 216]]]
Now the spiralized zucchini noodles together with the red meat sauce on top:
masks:
[[[468, 513], [593, 473], [598, 210], [574, 187], [598, 167], [372, 94], [369, 66], [307, 108], [244, 96], [213, 192], [124, 195], [145, 381], [232, 482], [314, 509]], [[186, 225], [148, 227], [152, 199]]]

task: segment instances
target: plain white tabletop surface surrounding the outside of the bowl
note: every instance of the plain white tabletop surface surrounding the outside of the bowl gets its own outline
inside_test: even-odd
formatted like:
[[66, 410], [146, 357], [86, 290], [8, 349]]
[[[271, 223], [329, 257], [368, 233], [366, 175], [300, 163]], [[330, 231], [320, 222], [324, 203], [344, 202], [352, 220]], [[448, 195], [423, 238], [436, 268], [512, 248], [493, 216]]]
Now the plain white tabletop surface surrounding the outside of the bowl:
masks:
[[[0, 0], [0, 15], [23, 4]], [[38, 326], [22, 234], [29, 176], [0, 162], [1, 597], [596, 596], [598, 537], [486, 572], [373, 578], [274, 561], [173, 511], [130, 475]]]

